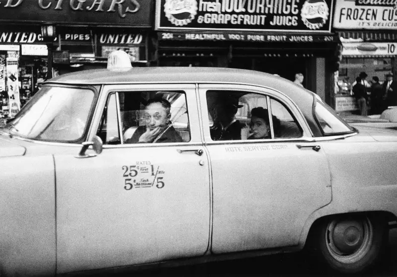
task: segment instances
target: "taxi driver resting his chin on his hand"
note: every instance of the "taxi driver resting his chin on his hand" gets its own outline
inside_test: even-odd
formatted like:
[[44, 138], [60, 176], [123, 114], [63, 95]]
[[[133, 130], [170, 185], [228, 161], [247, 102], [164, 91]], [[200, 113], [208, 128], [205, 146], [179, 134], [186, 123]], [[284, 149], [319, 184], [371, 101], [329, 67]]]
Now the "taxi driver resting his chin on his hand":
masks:
[[126, 143], [182, 142], [170, 121], [170, 110], [171, 104], [165, 99], [148, 100], [144, 112], [145, 126], [138, 127]]

